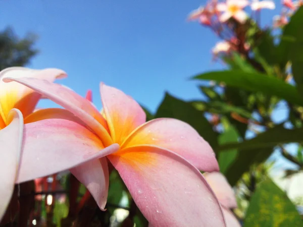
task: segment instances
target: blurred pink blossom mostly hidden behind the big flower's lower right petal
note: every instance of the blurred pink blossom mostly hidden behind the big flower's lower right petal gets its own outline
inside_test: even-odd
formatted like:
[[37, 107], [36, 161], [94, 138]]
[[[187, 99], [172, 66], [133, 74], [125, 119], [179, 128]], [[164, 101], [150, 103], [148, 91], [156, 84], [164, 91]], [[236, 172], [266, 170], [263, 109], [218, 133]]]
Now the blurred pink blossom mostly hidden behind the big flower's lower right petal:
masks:
[[241, 227], [239, 221], [230, 211], [237, 207], [236, 198], [224, 175], [219, 172], [205, 173], [204, 177], [214, 190], [219, 202], [222, 205], [227, 227]]

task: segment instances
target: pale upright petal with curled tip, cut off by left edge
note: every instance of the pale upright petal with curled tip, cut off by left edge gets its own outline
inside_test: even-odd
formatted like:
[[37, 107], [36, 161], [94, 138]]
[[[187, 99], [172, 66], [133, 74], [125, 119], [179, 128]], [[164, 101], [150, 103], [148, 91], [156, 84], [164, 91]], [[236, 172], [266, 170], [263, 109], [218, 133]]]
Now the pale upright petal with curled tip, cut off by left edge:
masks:
[[11, 123], [0, 130], [0, 221], [14, 191], [22, 149], [23, 118], [20, 110], [12, 109], [8, 118]]

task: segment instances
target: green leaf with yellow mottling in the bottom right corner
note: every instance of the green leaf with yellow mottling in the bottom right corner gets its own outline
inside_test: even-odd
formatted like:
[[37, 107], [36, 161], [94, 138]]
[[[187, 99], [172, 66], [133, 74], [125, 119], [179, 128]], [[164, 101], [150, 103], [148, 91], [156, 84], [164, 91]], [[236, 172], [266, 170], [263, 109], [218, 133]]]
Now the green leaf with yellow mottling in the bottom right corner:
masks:
[[246, 212], [244, 227], [256, 226], [303, 226], [294, 204], [270, 179], [258, 185]]

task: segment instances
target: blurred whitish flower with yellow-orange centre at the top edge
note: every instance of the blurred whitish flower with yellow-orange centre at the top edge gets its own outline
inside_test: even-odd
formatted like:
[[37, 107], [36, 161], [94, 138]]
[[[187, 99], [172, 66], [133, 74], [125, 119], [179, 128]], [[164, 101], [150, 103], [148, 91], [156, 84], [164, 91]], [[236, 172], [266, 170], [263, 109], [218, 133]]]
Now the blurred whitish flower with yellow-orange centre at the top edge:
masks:
[[244, 8], [249, 3], [246, 0], [226, 0], [226, 3], [218, 3], [217, 10], [223, 12], [220, 16], [221, 22], [226, 22], [233, 17], [236, 21], [243, 24], [247, 20], [247, 14], [244, 12]]

